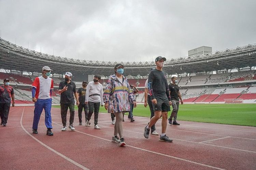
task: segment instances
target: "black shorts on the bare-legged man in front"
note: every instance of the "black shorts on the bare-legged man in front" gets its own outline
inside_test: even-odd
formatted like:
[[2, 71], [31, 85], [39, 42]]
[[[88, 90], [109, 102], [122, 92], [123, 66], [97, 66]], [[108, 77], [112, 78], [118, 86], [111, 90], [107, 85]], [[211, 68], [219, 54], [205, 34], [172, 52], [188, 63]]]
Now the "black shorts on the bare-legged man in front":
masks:
[[169, 100], [166, 95], [164, 96], [155, 96], [157, 104], [153, 104], [154, 112], [161, 111], [161, 112], [170, 112], [171, 107], [169, 104]]

